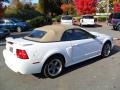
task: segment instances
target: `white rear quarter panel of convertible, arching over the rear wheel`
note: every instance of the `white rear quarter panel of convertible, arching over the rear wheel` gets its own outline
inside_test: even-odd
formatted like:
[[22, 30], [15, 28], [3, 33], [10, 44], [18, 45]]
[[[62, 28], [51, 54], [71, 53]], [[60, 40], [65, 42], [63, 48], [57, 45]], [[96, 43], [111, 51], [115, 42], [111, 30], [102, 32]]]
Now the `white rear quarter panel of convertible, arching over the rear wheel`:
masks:
[[31, 62], [40, 62], [42, 64], [52, 55], [60, 53], [64, 56], [66, 64], [71, 60], [71, 44], [70, 42], [53, 42], [53, 43], [38, 43], [31, 46], [23, 47], [27, 51]]

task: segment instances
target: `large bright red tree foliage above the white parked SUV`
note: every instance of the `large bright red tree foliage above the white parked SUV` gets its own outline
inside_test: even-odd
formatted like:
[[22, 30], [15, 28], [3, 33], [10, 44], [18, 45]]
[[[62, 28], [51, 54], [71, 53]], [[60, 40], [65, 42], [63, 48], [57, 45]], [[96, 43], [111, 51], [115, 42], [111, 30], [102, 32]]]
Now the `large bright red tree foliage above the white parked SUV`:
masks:
[[78, 15], [96, 12], [97, 0], [73, 0]]

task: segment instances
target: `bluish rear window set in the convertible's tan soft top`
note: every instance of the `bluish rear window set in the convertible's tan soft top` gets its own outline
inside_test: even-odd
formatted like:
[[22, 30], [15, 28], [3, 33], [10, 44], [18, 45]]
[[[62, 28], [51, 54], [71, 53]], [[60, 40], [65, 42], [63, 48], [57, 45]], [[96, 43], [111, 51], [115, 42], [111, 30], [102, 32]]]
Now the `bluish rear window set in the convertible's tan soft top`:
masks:
[[34, 31], [32, 31], [32, 32], [28, 35], [28, 37], [31, 37], [31, 38], [42, 38], [45, 34], [46, 34], [45, 31], [34, 30]]

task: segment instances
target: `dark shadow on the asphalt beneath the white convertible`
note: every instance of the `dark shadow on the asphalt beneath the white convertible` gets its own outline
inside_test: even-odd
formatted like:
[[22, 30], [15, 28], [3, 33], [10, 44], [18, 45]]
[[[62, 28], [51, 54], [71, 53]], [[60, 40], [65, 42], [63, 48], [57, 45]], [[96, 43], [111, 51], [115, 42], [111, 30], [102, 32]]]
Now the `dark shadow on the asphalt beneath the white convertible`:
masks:
[[[120, 47], [115, 46], [115, 47], [113, 48], [110, 56], [112, 56], [112, 55], [114, 55], [114, 54], [116, 54], [116, 53], [118, 53], [118, 52], [120, 52]], [[101, 58], [100, 56], [98, 56], [98, 57], [89, 59], [89, 60], [87, 60], [87, 61], [84, 61], [84, 62], [75, 64], [75, 65], [69, 66], [69, 67], [67, 67], [67, 68], [64, 68], [64, 69], [63, 69], [63, 72], [61, 73], [61, 75], [59, 75], [59, 77], [65, 75], [65, 74], [68, 74], [68, 73], [70, 73], [70, 72], [72, 72], [72, 71], [74, 71], [74, 70], [77, 70], [77, 69], [80, 69], [80, 68], [85, 67], [85, 66], [87, 66], [87, 65], [90, 65], [90, 64], [93, 64], [93, 63], [95, 63], [95, 62], [98, 62], [98, 61], [100, 61], [100, 60], [102, 60], [102, 58]], [[40, 79], [40, 78], [45, 79], [45, 77], [42, 76], [40, 73], [34, 74], [33, 76], [35, 76], [36, 78], [39, 78], [39, 79]]]

